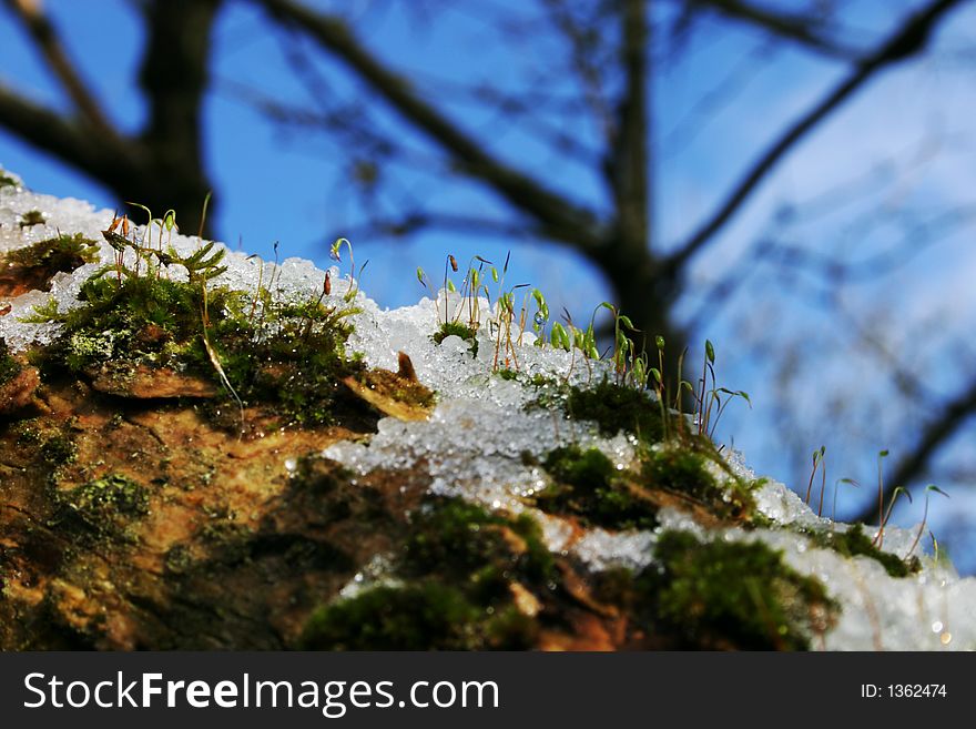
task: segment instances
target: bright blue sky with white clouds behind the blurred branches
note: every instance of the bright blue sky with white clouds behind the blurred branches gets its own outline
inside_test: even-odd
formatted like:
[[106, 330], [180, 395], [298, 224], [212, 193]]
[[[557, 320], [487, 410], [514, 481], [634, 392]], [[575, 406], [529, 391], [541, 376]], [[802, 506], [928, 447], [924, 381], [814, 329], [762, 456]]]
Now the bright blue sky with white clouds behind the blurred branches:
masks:
[[[407, 69], [425, 83], [494, 81], [525, 84], [527, 73], [551, 59], [557, 49], [545, 37], [505, 45], [478, 23], [464, 6], [416, 21], [387, 2], [317, 2], [323, 8], [354, 7], [363, 14], [366, 40], [383, 58]], [[494, 8], [509, 12], [530, 3], [499, 0]], [[790, 3], [779, 3], [789, 7]], [[844, 3], [844, 39], [870, 44], [896, 22], [893, 7], [919, 2], [872, 0]], [[134, 85], [142, 29], [128, 2], [121, 0], [49, 0], [64, 32], [71, 55], [80, 59], [85, 78], [103, 100], [110, 117], [135, 130], [144, 110]], [[378, 9], [377, 9], [378, 8]], [[362, 9], [362, 10], [359, 10]], [[662, 11], [662, 14], [667, 11]], [[883, 331], [891, 348], [921, 373], [936, 395], [948, 395], [976, 352], [966, 350], [960, 333], [976, 325], [976, 295], [970, 284], [973, 229], [959, 226], [937, 245], [919, 250], [907, 265], [880, 279], [852, 283], [828, 306], [830, 286], [822, 277], [749, 266], [739, 272], [740, 256], [756, 241], [772, 237], [807, 251], [870, 260], [914, 229], [914, 219], [976, 201], [976, 160], [972, 122], [976, 89], [972, 84], [976, 12], [956, 12], [936, 39], [935, 52], [881, 78], [817, 129], [769, 178], [751, 204], [724, 232], [720, 243], [697, 262], [690, 293], [679, 302], [684, 321], [694, 321], [695, 335], [716, 343], [721, 378], [753, 395], [753, 412], [730, 409], [726, 437], [749, 455], [761, 473], [787, 482], [797, 478], [797, 462], [827, 445], [832, 477], [870, 482], [874, 454], [905, 439], [903, 408], [886, 407], [889, 388], [873, 387], [876, 354], [862, 351], [837, 320], [837, 306], [851, 310], [864, 326]], [[294, 80], [282, 45], [267, 32], [247, 3], [233, 2], [222, 16], [214, 38], [212, 68], [216, 92], [205, 108], [207, 166], [221, 205], [216, 229], [234, 245], [271, 255], [281, 241], [284, 255], [327, 259], [327, 244], [349, 225], [357, 212], [352, 182], [334, 146], [314, 134], [287, 133], [268, 124], [227, 92], [230, 82], [246, 83], [296, 104], [314, 102]], [[771, 134], [795, 118], [846, 72], [846, 67], [790, 47], [769, 48], [752, 31], [712, 21], [689, 42], [680, 62], [661, 68], [654, 89], [655, 235], [665, 245], [681, 240], [712, 210], [744, 166], [770, 141]], [[6, 13], [0, 13], [0, 80], [33, 99], [58, 108], [64, 101], [52, 85], [32, 48]], [[404, 135], [421, 160], [429, 143], [413, 136], [388, 110], [369, 107], [357, 84], [323, 67], [331, 92], [345, 99], [350, 114], [364, 114], [376, 129]], [[435, 87], [436, 88], [436, 87]], [[447, 88], [445, 85], [445, 88]], [[543, 89], [567, 91], [559, 82]], [[731, 89], [729, 99], [695, 113], [703, 98]], [[719, 103], [721, 102], [721, 103]], [[594, 206], [604, 204], [603, 190], [591, 171], [545, 151], [520, 124], [450, 104], [455, 119], [490, 140], [505, 159], [545, 176], [561, 192]], [[582, 143], [596, 143], [596, 130], [584, 117], [563, 120], [563, 131]], [[91, 180], [0, 131], [0, 164], [21, 174], [38, 190], [85, 198], [113, 207], [115, 201]], [[476, 185], [438, 174], [436, 169], [399, 174], [403, 194], [429, 201], [438, 210], [475, 209], [486, 215], [504, 212], [500, 203]], [[844, 188], [851, 183], [850, 188]], [[838, 190], [840, 188], [840, 190]], [[830, 196], [833, 193], [833, 196]], [[794, 206], [792, 220], [776, 212]], [[917, 222], [917, 221], [915, 221]], [[916, 231], [917, 232], [917, 231]], [[604, 283], [580, 256], [553, 245], [481, 235], [476, 240], [425, 234], [395, 245], [355, 240], [356, 259], [369, 259], [364, 285], [380, 304], [411, 303], [421, 295], [413, 274], [421, 265], [437, 280], [446, 253], [459, 260], [480, 254], [501, 261], [514, 249], [511, 280], [540, 285], [550, 308], [569, 306], [577, 318], [589, 316], [610, 297]], [[703, 295], [726, 275], [742, 281], [742, 291], [728, 306], [709, 311]], [[795, 373], [783, 372], [782, 354], [795, 351]], [[779, 364], [777, 364], [779, 363]], [[792, 377], [792, 378], [791, 378]], [[852, 381], [864, 382], [863, 386]], [[782, 382], [785, 389], [771, 383]], [[722, 384], [722, 383], [720, 383]], [[866, 414], [852, 419], [852, 429], [836, 432], [830, 422], [811, 417], [803, 435], [809, 449], [777, 447], [777, 398], [784, 393], [800, 411], [823, 411], [836, 396], [848, 411]], [[846, 393], [846, 394], [841, 394]], [[851, 394], [853, 393], [853, 394]], [[894, 402], [894, 401], [893, 401]], [[926, 415], [926, 414], [921, 414]], [[972, 431], [946, 452], [945, 459], [968, 457]], [[967, 503], [954, 495], [954, 514]], [[855, 495], [842, 498], [842, 507]], [[969, 497], [969, 500], [974, 500]], [[976, 503], [973, 504], [976, 508]], [[970, 512], [972, 513], [972, 512]], [[899, 514], [904, 523], [917, 518]]]

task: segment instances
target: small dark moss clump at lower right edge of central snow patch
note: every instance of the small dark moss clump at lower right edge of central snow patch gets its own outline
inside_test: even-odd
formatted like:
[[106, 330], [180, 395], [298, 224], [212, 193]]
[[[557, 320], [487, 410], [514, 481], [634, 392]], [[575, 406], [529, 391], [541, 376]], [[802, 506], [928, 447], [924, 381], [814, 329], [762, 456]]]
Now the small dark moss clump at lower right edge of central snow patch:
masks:
[[629, 484], [599, 449], [557, 448], [543, 464], [553, 483], [535, 498], [543, 512], [573, 516], [584, 526], [653, 529], [658, 508], [640, 487]]

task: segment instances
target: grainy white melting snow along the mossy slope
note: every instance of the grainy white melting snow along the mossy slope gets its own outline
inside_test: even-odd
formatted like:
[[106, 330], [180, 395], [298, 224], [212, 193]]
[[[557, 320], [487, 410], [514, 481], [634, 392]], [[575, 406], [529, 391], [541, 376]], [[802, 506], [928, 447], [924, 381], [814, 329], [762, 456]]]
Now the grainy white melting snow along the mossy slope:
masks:
[[[21, 216], [30, 210], [40, 210], [44, 225], [19, 226]], [[96, 211], [85, 202], [57, 199], [32, 193], [22, 186], [0, 189], [0, 253], [29, 245], [60, 233], [83, 233], [102, 241], [100, 231], [108, 227], [113, 211]], [[144, 234], [144, 229], [138, 229]], [[157, 235], [157, 229], [153, 235]], [[153, 239], [155, 240], [155, 239]], [[165, 240], [165, 239], [164, 239]], [[195, 236], [172, 236], [172, 244], [181, 253], [200, 245]], [[345, 252], [345, 250], [344, 250]], [[101, 243], [101, 262], [87, 264], [71, 275], [61, 274], [53, 282], [50, 294], [29, 292], [22, 296], [0, 301], [0, 307], [11, 305], [0, 316], [0, 337], [13, 350], [45, 343], [57, 333], [50, 324], [27, 324], [18, 321], [34, 306], [54, 296], [61, 308], [78, 304], [81, 283], [99, 265], [113, 261], [113, 250]], [[322, 291], [325, 271], [308, 261], [287, 259], [275, 266], [244, 253], [228, 251], [228, 270], [215, 283], [253, 291], [258, 277], [274, 286], [284, 296], [316, 294]], [[173, 271], [171, 275], [177, 275]], [[342, 261], [331, 270], [331, 297], [336, 304], [349, 291], [348, 262]], [[447, 301], [448, 312], [459, 305], [457, 294]], [[626, 468], [634, 459], [636, 441], [618, 435], [600, 436], [586, 422], [572, 422], [547, 409], [526, 409], [523, 406], [538, 393], [519, 382], [490, 376], [496, 357], [495, 344], [487, 327], [479, 332], [477, 356], [470, 345], [458, 337], [448, 337], [435, 345], [430, 334], [438, 324], [445, 300], [423, 298], [414, 306], [382, 310], [362, 291], [354, 295], [358, 307], [350, 322], [355, 333], [349, 340], [350, 352], [359, 352], [372, 366], [396, 369], [397, 353], [406, 352], [420, 381], [438, 393], [438, 403], [429, 421], [403, 423], [387, 417], [379, 422], [378, 432], [368, 443], [342, 442], [331, 445], [323, 455], [334, 458], [357, 474], [375, 468], [420, 468], [429, 473], [433, 492], [464, 497], [490, 508], [521, 512], [527, 507], [522, 497], [546, 485], [545, 473], [523, 458], [530, 454], [543, 458], [551, 449], [577, 444], [600, 448], [618, 466]], [[487, 301], [481, 302], [488, 310]], [[599, 381], [601, 368], [594, 372], [569, 353], [531, 345], [526, 334], [517, 347], [518, 368], [529, 376], [542, 373], [566, 377], [586, 384]], [[502, 353], [504, 357], [504, 353]], [[754, 474], [741, 454], [726, 450], [734, 472], [748, 478]], [[284, 463], [283, 467], [294, 462]], [[819, 517], [784, 484], [767, 482], [758, 493], [760, 510], [780, 525], [805, 528], [846, 529]], [[571, 553], [592, 569], [612, 566], [640, 567], [653, 560], [657, 534], [662, 529], [687, 529], [703, 538], [725, 540], [760, 539], [782, 549], [785, 560], [797, 571], [824, 583], [831, 595], [842, 605], [838, 624], [822, 645], [814, 648], [828, 650], [936, 650], [976, 648], [976, 621], [969, 616], [976, 609], [976, 579], [959, 578], [950, 567], [936, 564], [922, 555], [923, 569], [907, 578], [889, 577], [873, 559], [847, 559], [828, 549], [814, 547], [806, 538], [786, 529], [740, 528], [705, 530], [687, 514], [664, 509], [659, 515], [661, 526], [655, 531], [611, 534], [591, 529], [583, 535], [573, 533], [561, 519], [533, 512], [551, 549]], [[915, 541], [918, 527], [913, 529], [886, 528], [884, 548], [905, 556]], [[868, 536], [873, 536], [868, 533]], [[357, 584], [382, 579], [383, 558], [364, 568]], [[349, 590], [356, 586], [350, 585]]]

